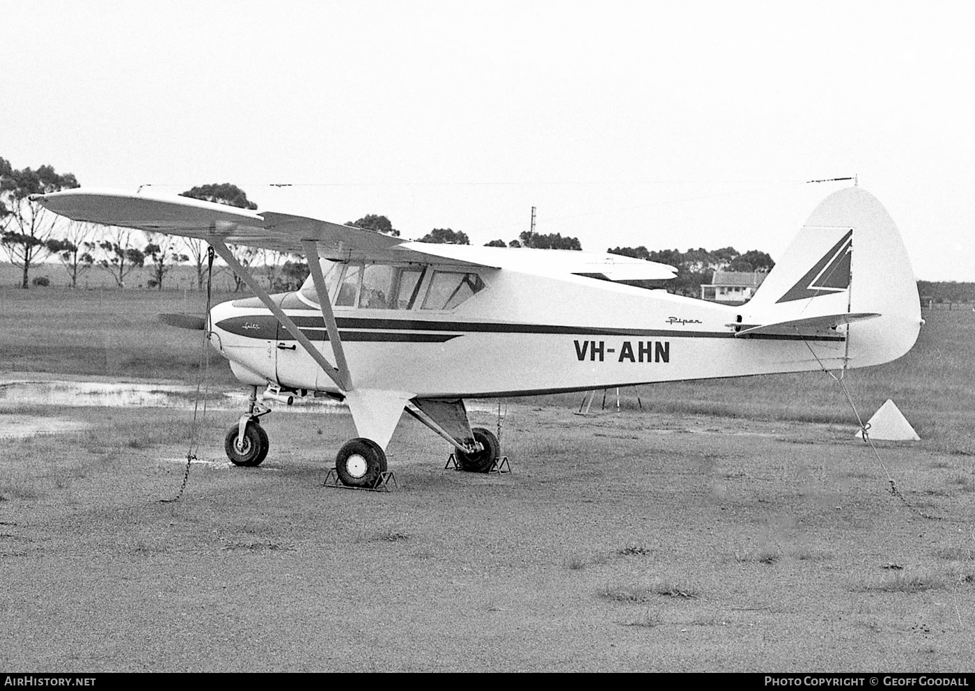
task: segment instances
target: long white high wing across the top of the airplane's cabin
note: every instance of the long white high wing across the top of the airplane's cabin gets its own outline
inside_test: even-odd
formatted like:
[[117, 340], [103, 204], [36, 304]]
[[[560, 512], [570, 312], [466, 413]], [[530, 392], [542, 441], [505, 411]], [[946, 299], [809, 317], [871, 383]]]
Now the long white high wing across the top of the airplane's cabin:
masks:
[[274, 211], [247, 211], [155, 192], [72, 189], [32, 195], [32, 201], [74, 220], [267, 250], [303, 253], [305, 243], [322, 257], [367, 261], [435, 261], [528, 273], [579, 274], [610, 281], [668, 280], [677, 270], [643, 259], [567, 250], [518, 250], [409, 242], [371, 230]]

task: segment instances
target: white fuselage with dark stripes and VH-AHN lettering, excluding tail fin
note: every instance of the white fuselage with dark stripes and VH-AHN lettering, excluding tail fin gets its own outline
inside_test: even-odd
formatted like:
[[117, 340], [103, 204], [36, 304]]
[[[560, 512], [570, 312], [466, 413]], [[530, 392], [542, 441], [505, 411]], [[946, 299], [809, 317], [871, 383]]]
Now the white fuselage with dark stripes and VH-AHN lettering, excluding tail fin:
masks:
[[[411, 309], [333, 307], [353, 387], [420, 398], [528, 395], [837, 368], [846, 355], [845, 327], [740, 338], [735, 307], [581, 276], [477, 273], [485, 288], [451, 310], [422, 309], [422, 300]], [[298, 293], [275, 300], [333, 362], [318, 306]], [[338, 393], [255, 298], [217, 305], [212, 325], [215, 347], [247, 383]]]

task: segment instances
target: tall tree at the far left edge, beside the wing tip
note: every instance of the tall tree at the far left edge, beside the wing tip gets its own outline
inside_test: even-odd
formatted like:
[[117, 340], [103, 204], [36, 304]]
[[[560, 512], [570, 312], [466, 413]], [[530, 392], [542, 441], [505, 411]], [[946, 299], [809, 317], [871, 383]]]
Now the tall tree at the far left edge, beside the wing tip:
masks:
[[71, 173], [56, 173], [52, 166], [16, 171], [0, 158], [0, 245], [11, 263], [22, 269], [20, 288], [30, 285], [31, 267], [51, 254], [48, 241], [57, 221], [54, 214], [30, 201], [30, 195], [73, 187], [78, 187], [78, 180]]

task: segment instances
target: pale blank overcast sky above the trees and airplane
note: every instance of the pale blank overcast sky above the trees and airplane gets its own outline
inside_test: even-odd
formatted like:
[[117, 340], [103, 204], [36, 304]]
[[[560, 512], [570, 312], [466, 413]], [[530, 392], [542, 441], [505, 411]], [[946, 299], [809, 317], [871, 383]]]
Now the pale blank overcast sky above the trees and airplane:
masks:
[[[778, 258], [858, 174], [975, 281], [975, 3], [4, 0], [0, 156], [474, 244]], [[291, 183], [273, 187], [270, 183]]]

